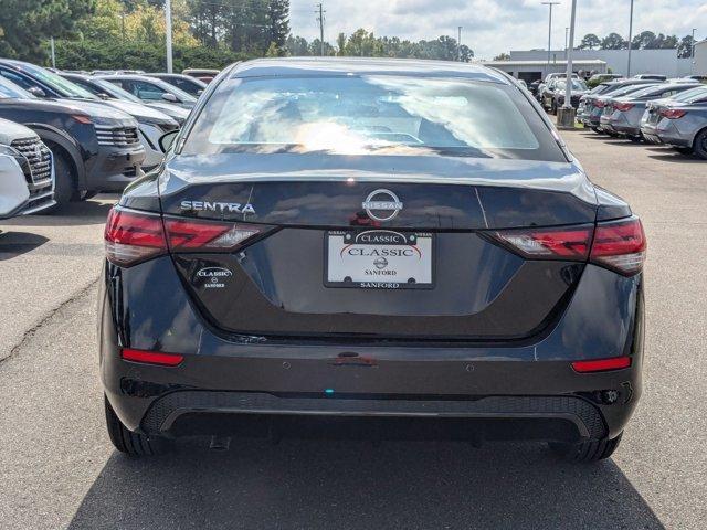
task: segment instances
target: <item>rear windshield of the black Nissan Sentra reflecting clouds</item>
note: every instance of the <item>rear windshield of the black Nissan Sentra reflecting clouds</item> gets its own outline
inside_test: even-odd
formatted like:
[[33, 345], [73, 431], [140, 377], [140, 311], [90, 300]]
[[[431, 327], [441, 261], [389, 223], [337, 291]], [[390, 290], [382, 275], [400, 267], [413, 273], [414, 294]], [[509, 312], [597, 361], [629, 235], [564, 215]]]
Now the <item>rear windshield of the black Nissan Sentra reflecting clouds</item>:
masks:
[[182, 152], [241, 151], [566, 161], [515, 87], [390, 75], [225, 81]]

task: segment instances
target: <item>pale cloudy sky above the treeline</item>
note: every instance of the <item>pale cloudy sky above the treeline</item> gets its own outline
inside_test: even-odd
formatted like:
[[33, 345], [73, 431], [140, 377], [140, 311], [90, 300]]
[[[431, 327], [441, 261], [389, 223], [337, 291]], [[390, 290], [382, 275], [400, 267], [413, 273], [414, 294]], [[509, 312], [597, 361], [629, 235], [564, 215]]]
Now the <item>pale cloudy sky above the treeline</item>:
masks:
[[[358, 28], [376, 35], [418, 41], [446, 34], [456, 38], [477, 59], [493, 59], [509, 50], [547, 50], [548, 7], [541, 0], [321, 0], [325, 40], [335, 44], [339, 32]], [[571, 0], [552, 10], [552, 49], [564, 49], [564, 28], [570, 25]], [[629, 36], [630, 0], [578, 0], [577, 38], [587, 33], [601, 39], [611, 32]], [[319, 36], [315, 0], [291, 0], [291, 25], [295, 35]], [[634, 34], [690, 34], [707, 38], [707, 0], [635, 0]]]

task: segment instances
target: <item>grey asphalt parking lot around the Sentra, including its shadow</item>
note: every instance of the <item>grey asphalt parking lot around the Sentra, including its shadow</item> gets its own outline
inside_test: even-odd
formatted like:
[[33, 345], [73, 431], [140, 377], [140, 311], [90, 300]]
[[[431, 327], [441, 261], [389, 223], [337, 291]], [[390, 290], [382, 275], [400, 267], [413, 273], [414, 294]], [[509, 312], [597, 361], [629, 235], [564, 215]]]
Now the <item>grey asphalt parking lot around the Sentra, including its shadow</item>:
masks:
[[113, 451], [96, 367], [102, 230], [116, 197], [0, 224], [2, 529], [703, 529], [707, 520], [707, 163], [571, 131], [650, 242], [645, 390], [594, 466], [539, 444], [202, 441]]

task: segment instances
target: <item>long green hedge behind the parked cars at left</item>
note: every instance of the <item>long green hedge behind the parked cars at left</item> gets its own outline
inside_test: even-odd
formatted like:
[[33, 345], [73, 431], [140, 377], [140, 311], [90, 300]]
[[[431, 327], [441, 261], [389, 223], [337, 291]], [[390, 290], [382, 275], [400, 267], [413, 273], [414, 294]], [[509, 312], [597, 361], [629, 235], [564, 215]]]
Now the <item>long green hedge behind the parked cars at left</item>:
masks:
[[[223, 68], [251, 59], [220, 47], [181, 46], [172, 49], [173, 70]], [[144, 70], [163, 72], [167, 67], [163, 45], [146, 42], [105, 42], [93, 40], [56, 41], [56, 67], [61, 70]]]

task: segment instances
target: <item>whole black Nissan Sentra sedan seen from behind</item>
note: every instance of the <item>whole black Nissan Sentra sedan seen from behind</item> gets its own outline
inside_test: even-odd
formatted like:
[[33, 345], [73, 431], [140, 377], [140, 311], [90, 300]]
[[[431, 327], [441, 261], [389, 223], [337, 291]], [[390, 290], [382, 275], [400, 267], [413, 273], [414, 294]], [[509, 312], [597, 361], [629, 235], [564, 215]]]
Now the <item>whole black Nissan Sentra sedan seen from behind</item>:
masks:
[[[108, 432], [619, 445], [639, 219], [505, 74], [276, 59], [207, 88], [108, 216]], [[220, 441], [220, 442], [219, 442]]]

